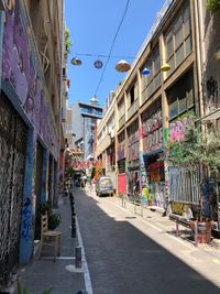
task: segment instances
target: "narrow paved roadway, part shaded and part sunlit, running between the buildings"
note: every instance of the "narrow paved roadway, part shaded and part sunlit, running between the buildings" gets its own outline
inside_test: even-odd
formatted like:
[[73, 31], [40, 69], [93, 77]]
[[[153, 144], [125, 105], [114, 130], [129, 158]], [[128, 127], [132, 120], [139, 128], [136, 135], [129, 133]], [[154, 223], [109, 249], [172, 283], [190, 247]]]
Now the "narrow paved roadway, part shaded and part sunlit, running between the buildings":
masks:
[[202, 246], [168, 236], [112, 198], [74, 196], [95, 294], [220, 293], [220, 264]]

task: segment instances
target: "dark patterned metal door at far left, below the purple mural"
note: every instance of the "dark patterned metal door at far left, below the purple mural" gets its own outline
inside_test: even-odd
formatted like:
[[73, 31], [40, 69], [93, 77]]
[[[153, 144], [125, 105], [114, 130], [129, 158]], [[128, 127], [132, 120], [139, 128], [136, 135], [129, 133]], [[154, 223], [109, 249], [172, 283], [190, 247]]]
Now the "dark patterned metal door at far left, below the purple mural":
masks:
[[28, 127], [0, 97], [0, 285], [19, 264]]

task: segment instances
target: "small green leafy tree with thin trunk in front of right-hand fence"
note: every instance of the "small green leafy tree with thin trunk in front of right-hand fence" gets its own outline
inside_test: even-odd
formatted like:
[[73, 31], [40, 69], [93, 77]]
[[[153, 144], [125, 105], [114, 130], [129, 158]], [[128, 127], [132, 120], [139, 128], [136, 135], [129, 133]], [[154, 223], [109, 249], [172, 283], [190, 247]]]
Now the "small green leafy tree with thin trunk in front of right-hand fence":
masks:
[[[209, 174], [220, 172], [220, 133], [207, 129], [204, 133], [200, 127], [189, 124], [183, 141], [167, 145], [167, 159], [170, 165], [197, 170], [199, 174], [200, 206], [199, 218], [202, 219], [202, 185], [207, 183]], [[199, 167], [199, 168], [196, 168]]]

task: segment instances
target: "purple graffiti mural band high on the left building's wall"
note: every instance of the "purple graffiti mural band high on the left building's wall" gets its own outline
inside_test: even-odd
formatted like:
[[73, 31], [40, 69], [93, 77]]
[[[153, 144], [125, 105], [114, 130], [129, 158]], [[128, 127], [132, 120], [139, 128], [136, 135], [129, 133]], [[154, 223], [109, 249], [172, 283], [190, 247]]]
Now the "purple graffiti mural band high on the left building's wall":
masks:
[[4, 21], [2, 79], [13, 88], [35, 133], [41, 135], [48, 149], [53, 146], [54, 156], [57, 157], [55, 127], [35, 51], [22, 22], [24, 15], [20, 1], [10, 2]]

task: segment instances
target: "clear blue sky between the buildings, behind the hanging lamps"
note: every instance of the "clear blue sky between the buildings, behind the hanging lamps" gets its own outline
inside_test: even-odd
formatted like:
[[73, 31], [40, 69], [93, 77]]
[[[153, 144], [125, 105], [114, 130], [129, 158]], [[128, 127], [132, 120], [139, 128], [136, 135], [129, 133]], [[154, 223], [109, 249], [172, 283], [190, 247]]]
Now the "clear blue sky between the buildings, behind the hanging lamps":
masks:
[[[133, 58], [127, 56], [136, 56], [163, 3], [164, 0], [130, 0], [111, 53], [119, 57], [110, 57], [97, 91], [101, 106], [125, 76], [114, 69], [116, 64], [120, 59], [132, 63]], [[69, 105], [77, 100], [89, 102], [96, 94], [103, 67], [96, 69], [94, 63], [97, 59], [101, 59], [103, 64], [107, 62], [107, 57], [99, 55], [109, 54], [127, 0], [65, 0], [66, 24], [73, 43], [68, 58]], [[81, 66], [69, 63], [75, 56], [80, 57]]]

